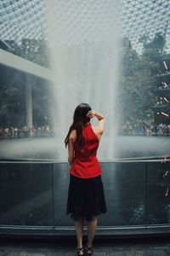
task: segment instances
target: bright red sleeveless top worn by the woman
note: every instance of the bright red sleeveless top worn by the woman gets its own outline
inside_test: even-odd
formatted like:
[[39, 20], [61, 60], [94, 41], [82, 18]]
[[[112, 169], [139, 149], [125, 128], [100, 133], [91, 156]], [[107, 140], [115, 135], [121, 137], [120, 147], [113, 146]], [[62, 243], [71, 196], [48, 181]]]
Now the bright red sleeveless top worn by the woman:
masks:
[[71, 165], [71, 175], [81, 178], [97, 177], [101, 174], [99, 160], [96, 156], [99, 139], [90, 123], [82, 129], [82, 137], [82, 150], [77, 147], [77, 143], [74, 143], [75, 158]]

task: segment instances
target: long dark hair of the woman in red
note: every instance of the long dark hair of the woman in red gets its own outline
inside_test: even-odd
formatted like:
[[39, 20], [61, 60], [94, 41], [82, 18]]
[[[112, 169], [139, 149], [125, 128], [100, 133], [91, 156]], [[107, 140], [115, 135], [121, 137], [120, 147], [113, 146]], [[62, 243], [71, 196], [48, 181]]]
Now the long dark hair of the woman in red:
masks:
[[76, 130], [77, 131], [76, 143], [77, 143], [77, 146], [82, 149], [82, 144], [83, 144], [82, 127], [90, 121], [90, 118], [88, 118], [86, 115], [88, 111], [91, 109], [92, 108], [87, 103], [81, 103], [77, 106], [74, 112], [72, 125], [69, 129], [67, 136], [65, 137], [65, 147], [69, 142], [71, 131]]

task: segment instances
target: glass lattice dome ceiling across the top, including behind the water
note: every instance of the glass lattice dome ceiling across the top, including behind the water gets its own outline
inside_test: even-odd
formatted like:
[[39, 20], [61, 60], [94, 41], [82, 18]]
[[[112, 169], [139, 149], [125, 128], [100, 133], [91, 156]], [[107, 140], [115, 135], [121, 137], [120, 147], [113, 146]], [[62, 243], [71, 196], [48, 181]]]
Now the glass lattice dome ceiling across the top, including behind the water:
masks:
[[[49, 3], [54, 3], [51, 13]], [[115, 10], [122, 25], [121, 36], [129, 38], [135, 49], [141, 50], [142, 35], [150, 39], [156, 32], [166, 36], [166, 49], [170, 49], [168, 0], [122, 0], [121, 9], [113, 0], [2, 0], [0, 38], [17, 42], [22, 38], [49, 38], [54, 30], [65, 44], [80, 44], [89, 38], [109, 40], [116, 32]], [[48, 26], [47, 14], [53, 21]]]

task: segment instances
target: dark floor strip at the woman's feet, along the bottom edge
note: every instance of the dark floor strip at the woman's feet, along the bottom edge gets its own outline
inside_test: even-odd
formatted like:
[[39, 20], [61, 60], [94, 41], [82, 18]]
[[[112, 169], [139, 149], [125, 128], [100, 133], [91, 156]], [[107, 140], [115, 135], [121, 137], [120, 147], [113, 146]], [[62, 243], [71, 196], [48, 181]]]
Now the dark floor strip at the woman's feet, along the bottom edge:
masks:
[[[75, 240], [1, 240], [0, 256], [54, 256], [77, 255]], [[168, 238], [96, 240], [94, 254], [98, 256], [167, 256], [170, 255]]]

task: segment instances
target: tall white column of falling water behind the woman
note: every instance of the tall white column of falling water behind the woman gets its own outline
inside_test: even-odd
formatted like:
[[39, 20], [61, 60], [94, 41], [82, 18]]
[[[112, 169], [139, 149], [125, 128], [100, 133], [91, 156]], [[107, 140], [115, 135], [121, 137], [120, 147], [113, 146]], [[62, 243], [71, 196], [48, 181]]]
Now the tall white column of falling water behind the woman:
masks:
[[[54, 1], [47, 4], [54, 69], [56, 158], [66, 157], [64, 139], [81, 102], [105, 114], [100, 160], [114, 159], [119, 39], [118, 1]], [[93, 120], [94, 123], [94, 120]]]

